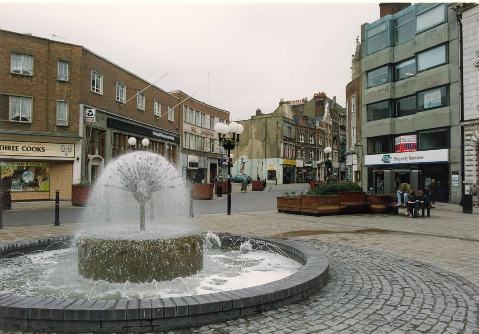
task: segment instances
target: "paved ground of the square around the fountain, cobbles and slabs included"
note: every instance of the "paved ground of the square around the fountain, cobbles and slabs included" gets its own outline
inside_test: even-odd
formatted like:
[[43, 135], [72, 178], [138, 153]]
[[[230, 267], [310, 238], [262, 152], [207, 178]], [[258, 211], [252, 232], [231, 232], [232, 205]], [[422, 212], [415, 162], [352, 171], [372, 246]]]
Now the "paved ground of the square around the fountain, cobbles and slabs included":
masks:
[[[457, 205], [438, 203], [430, 218], [292, 215], [275, 210], [275, 197], [306, 184], [246, 194], [238, 186], [232, 215], [225, 214], [225, 196], [195, 201], [189, 222], [205, 232], [307, 243], [328, 256], [329, 282], [278, 310], [165, 333], [479, 333], [479, 212], [464, 214]], [[78, 217], [87, 208], [68, 202], [61, 208], [56, 227], [50, 202], [13, 203], [12, 211], [3, 212], [0, 243], [81, 228]]]

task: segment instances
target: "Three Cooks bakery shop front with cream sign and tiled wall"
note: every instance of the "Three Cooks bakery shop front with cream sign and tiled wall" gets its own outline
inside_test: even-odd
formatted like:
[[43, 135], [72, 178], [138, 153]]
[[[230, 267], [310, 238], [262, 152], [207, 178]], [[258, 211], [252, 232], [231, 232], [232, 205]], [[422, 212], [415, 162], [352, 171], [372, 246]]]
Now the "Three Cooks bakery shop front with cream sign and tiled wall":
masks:
[[80, 173], [78, 146], [73, 141], [0, 141], [1, 190], [10, 191], [12, 201], [54, 200], [55, 190], [60, 199], [71, 199], [74, 174]]

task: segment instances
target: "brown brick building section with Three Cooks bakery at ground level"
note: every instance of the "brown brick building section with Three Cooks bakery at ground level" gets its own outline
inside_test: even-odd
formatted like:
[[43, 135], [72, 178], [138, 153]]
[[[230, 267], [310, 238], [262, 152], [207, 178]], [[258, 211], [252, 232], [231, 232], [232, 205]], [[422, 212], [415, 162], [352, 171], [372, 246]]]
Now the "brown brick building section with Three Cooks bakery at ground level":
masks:
[[0, 30], [1, 189], [12, 200], [71, 198], [81, 174], [82, 48]]

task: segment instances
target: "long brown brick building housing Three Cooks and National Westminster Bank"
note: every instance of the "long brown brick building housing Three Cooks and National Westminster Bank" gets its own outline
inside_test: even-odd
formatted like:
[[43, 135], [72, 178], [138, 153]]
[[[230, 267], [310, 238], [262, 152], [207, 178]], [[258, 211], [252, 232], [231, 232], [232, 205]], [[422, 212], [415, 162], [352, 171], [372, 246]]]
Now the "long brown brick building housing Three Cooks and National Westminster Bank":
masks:
[[0, 30], [0, 49], [1, 189], [12, 200], [56, 189], [70, 199], [72, 183], [131, 150], [130, 136], [179, 168], [177, 97], [80, 45]]

